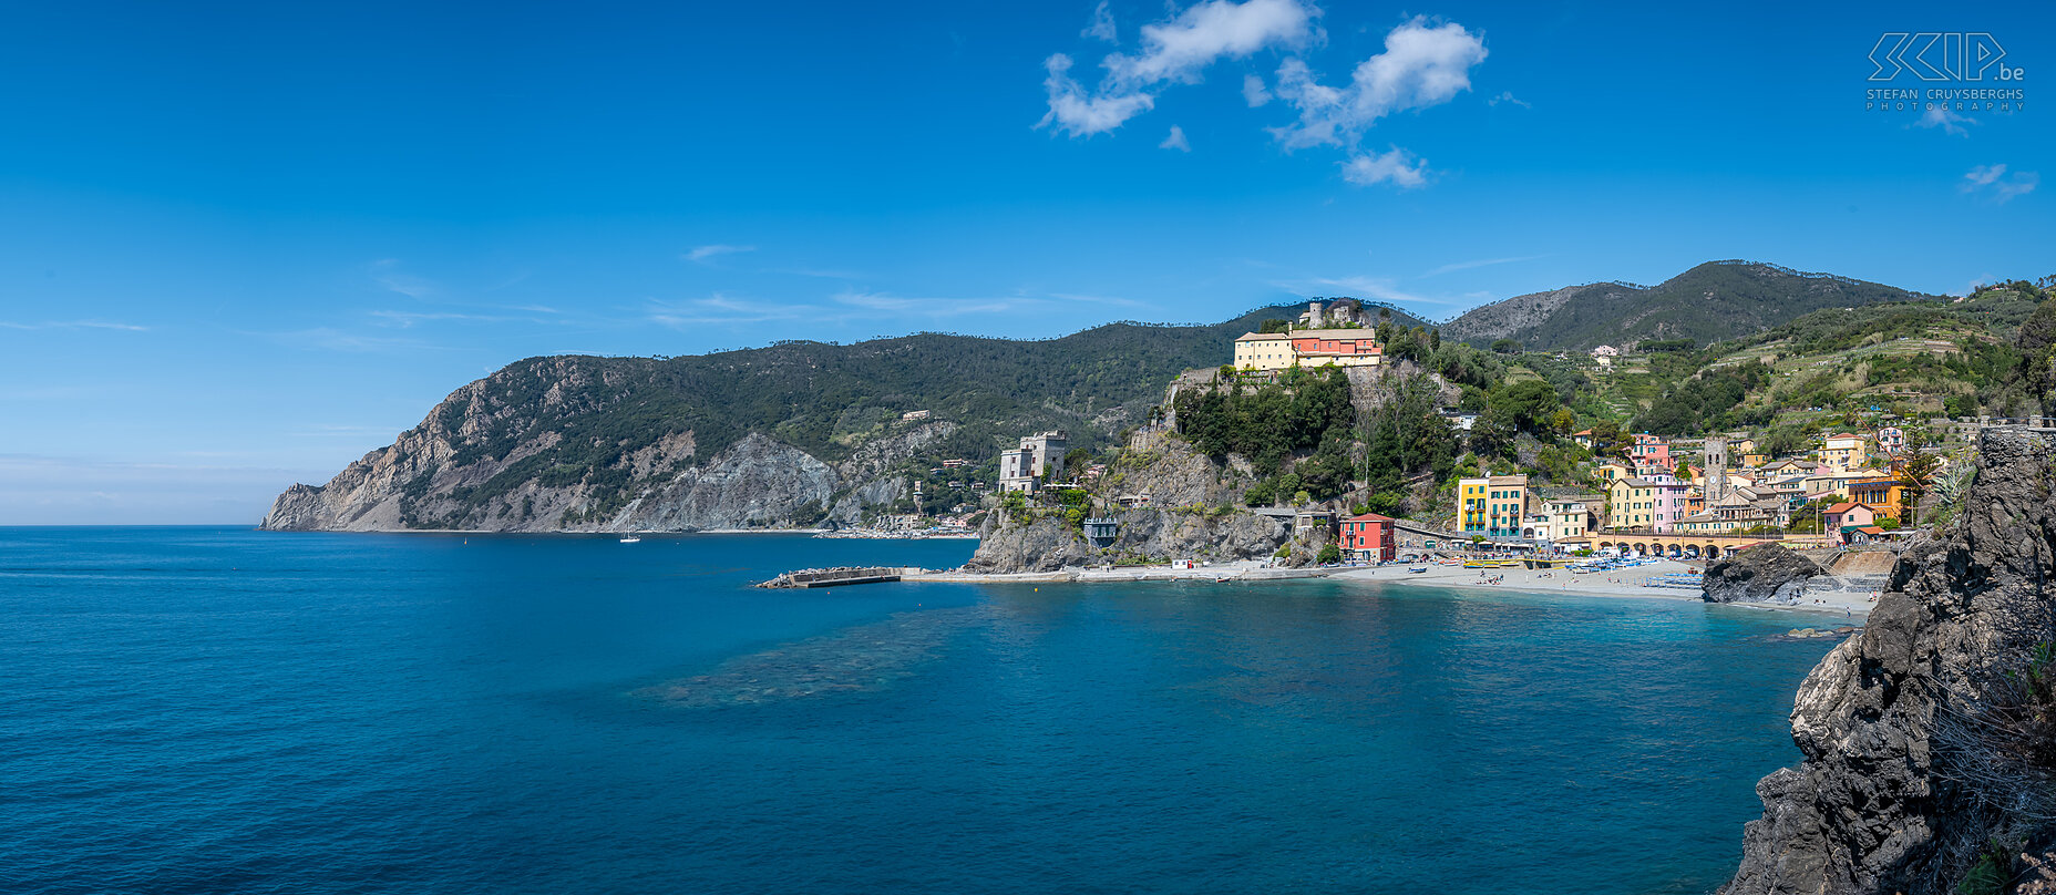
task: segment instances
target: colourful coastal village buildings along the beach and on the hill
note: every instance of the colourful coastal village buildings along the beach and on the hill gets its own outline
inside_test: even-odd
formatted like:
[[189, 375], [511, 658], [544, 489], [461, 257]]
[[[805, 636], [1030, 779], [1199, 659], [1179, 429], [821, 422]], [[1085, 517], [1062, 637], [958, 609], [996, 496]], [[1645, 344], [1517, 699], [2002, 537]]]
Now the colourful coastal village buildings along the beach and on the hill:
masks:
[[[1219, 389], [1225, 383], [1240, 393], [1328, 370], [1347, 372], [1359, 385], [1417, 374], [1398, 368], [1406, 360], [1390, 354], [1390, 329], [1373, 325], [1371, 313], [1355, 302], [1312, 302], [1295, 321], [1236, 337], [1229, 366], [1197, 370], [1182, 387]], [[1635, 354], [1598, 346], [1575, 360], [1593, 377], [1606, 377], [1632, 362]], [[1166, 407], [1178, 389], [1174, 385]], [[915, 422], [927, 414], [909, 411], [905, 418]], [[1462, 444], [1476, 436], [1484, 414], [1443, 403], [1433, 416]], [[1447, 500], [1433, 498], [1427, 512], [1371, 512], [1363, 506], [1363, 484], [1351, 484], [1349, 494], [1328, 500], [1310, 500], [1306, 492], [1252, 498], [1238, 512], [1271, 518], [1287, 533], [1285, 545], [1262, 566], [1310, 570], [1431, 562], [1550, 568], [1598, 558], [1680, 560], [1696, 572], [1706, 562], [1766, 543], [1815, 556], [1889, 556], [1920, 529], [1937, 496], [1959, 490], [1959, 473], [1968, 471], [1961, 469], [1966, 449], [1980, 430], [2040, 428], [2046, 422], [1912, 420], [1871, 409], [1850, 414], [1799, 451], [1772, 451], [1768, 438], [1752, 430], [1661, 436], [1622, 432], [1616, 420], [1593, 420], [1591, 426], [1554, 432], [1558, 457], [1573, 459], [1569, 475], [1563, 463], [1544, 471], [1505, 457], [1464, 455], [1466, 465], [1478, 467], [1476, 473], [1452, 473], [1439, 484]], [[1155, 438], [1151, 444], [1180, 440], [1176, 414], [1164, 407], [1149, 428], [1153, 432], [1145, 436]], [[975, 537], [981, 523], [991, 535], [995, 518], [1003, 527], [1007, 518], [1026, 523], [1057, 514], [1069, 518], [1075, 537], [1098, 547], [1102, 560], [1094, 564], [1108, 570], [1155, 564], [1192, 572], [1211, 566], [1203, 556], [1207, 549], [1195, 549], [1195, 556], [1123, 556], [1114, 549], [1123, 512], [1170, 508], [1160, 494], [1121, 488], [1118, 477], [1108, 475], [1118, 463], [1118, 449], [1104, 455], [1071, 451], [1063, 430], [1026, 434], [987, 467], [997, 471], [991, 481], [964, 481], [972, 469], [985, 467], [970, 459], [948, 459], [931, 469], [950, 475], [950, 488], [968, 486], [979, 496], [977, 504], [958, 502], [935, 516], [919, 510], [888, 514], [876, 527], [831, 537]], [[915, 484], [913, 500], [921, 498]], [[1688, 584], [1698, 586], [1696, 580]]]

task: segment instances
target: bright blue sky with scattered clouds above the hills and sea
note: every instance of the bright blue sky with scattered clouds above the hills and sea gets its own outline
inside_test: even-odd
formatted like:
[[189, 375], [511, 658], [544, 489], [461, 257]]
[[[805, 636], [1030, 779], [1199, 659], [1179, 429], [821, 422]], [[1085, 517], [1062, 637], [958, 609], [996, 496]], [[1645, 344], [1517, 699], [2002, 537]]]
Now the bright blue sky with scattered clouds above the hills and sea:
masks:
[[[16, 4], [0, 525], [253, 523], [537, 354], [2056, 274], [2048, 6], [1686, 6]], [[2025, 105], [1865, 111], [1966, 86], [1894, 29]]]

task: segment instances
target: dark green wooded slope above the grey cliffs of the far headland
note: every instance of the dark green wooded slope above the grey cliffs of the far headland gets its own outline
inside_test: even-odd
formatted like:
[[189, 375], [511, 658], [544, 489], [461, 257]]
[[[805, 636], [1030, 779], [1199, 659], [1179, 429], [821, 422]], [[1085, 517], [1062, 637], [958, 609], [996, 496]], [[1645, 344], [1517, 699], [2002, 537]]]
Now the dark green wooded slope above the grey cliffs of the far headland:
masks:
[[[446, 432], [481, 420], [456, 442], [456, 467], [553, 436], [549, 449], [456, 494], [463, 512], [530, 479], [621, 492], [602, 502], [615, 506], [635, 479], [625, 459], [681, 432], [693, 434], [701, 459], [765, 432], [835, 463], [915, 409], [956, 424], [921, 451], [925, 459], [983, 465], [1022, 434], [1049, 428], [1067, 430], [1073, 446], [1108, 446], [1147, 418], [1172, 377], [1229, 362], [1236, 335], [1299, 311], [1266, 307], [1215, 325], [1110, 323], [1042, 342], [917, 333], [681, 358], [528, 358], [481, 381], [477, 399], [444, 401], [438, 414]], [[1394, 321], [1419, 325], [1404, 313]]]

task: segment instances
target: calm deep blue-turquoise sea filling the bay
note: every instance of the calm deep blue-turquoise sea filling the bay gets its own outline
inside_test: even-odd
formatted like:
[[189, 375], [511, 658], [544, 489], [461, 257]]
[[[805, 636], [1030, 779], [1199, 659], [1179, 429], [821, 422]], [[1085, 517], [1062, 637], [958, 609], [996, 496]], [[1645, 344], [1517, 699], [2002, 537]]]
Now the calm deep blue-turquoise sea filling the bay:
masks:
[[0, 529], [0, 891], [1700, 893], [1828, 650], [1661, 599], [744, 586], [968, 551]]

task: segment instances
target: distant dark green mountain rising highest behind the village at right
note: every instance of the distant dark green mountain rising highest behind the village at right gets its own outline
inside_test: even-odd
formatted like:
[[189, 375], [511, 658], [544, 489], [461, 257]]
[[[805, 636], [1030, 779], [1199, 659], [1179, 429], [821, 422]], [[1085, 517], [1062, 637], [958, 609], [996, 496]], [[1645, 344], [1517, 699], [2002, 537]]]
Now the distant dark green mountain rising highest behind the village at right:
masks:
[[1787, 323], [1809, 311], [1931, 298], [1875, 282], [1801, 274], [1772, 263], [1709, 261], [1657, 286], [1600, 282], [1513, 296], [1445, 323], [1443, 335], [1526, 350], [1589, 350], [1647, 339], [1711, 344]]

